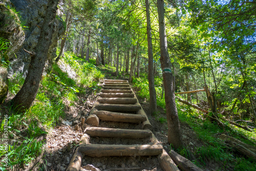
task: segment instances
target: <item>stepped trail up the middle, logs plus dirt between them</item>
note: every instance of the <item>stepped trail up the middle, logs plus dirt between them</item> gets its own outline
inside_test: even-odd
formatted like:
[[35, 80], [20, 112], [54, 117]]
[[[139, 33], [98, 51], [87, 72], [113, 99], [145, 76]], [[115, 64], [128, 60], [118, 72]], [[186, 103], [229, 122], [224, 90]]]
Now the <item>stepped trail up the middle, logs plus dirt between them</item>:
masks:
[[78, 126], [84, 132], [67, 170], [175, 167], [151, 132], [152, 125], [126, 80], [105, 80], [86, 122]]

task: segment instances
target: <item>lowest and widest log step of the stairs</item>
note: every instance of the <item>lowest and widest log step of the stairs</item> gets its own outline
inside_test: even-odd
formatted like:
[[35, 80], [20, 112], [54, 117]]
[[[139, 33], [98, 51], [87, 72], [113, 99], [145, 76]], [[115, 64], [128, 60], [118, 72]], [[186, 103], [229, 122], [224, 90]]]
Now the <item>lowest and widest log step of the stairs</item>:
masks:
[[86, 156], [157, 156], [163, 152], [162, 145], [80, 145], [79, 151]]

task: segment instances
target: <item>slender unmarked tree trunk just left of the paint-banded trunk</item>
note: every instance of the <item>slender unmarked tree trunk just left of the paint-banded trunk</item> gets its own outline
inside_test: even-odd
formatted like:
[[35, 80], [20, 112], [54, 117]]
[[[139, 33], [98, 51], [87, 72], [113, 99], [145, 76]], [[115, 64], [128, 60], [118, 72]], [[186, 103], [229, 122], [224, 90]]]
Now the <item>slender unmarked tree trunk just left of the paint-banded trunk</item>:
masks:
[[150, 114], [153, 115], [157, 111], [157, 96], [155, 89], [154, 71], [153, 71], [153, 46], [150, 20], [150, 4], [145, 0], [146, 4], [146, 31], [147, 31], [147, 54], [148, 54], [148, 88], [150, 90]]

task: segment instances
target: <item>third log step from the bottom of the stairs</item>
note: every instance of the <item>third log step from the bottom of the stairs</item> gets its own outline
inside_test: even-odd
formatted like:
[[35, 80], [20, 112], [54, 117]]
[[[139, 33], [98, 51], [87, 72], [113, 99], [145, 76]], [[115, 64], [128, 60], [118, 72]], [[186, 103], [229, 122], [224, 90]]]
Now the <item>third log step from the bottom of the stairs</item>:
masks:
[[146, 116], [136, 114], [125, 114], [109, 111], [95, 111], [93, 114], [97, 115], [99, 119], [106, 121], [140, 123], [146, 120]]

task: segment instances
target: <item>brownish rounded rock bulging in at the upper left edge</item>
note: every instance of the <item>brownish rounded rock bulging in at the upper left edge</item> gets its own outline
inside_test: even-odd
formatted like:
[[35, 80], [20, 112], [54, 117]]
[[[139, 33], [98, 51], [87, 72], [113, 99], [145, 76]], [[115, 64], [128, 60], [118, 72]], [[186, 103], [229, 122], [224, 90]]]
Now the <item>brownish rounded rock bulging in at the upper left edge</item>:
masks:
[[14, 54], [22, 47], [25, 40], [25, 33], [20, 26], [19, 17], [8, 5], [9, 2], [6, 0], [0, 3], [0, 38], [5, 43], [10, 42], [9, 48], [0, 52], [0, 103], [3, 102], [8, 93], [8, 61], [15, 57]]

